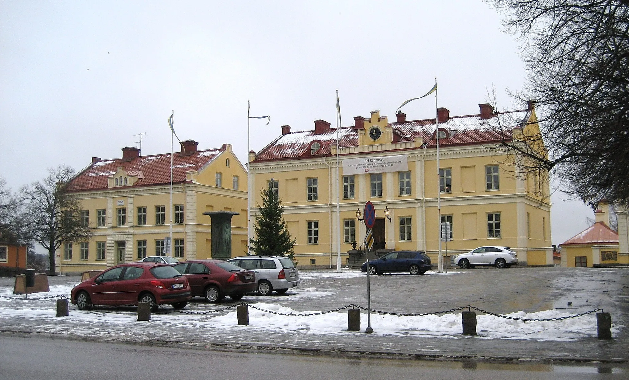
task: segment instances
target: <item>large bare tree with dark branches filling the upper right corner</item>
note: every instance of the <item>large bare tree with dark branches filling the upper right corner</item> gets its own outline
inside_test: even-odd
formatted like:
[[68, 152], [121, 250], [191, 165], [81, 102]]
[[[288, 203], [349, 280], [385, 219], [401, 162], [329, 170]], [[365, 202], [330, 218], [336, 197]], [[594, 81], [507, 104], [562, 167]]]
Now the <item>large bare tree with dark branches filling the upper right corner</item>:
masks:
[[505, 146], [593, 207], [629, 204], [628, 1], [487, 2], [522, 43], [529, 81], [514, 95], [535, 99], [541, 127], [526, 144]]

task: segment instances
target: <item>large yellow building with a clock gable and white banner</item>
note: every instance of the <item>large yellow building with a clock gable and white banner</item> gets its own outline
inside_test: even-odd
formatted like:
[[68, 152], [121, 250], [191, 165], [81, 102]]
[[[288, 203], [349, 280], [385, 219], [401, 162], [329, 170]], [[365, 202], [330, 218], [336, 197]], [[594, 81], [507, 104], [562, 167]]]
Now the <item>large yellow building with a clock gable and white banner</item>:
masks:
[[366, 201], [376, 208], [379, 249], [423, 250], [436, 263], [441, 222], [452, 239], [442, 243], [444, 255], [446, 248], [452, 255], [503, 245], [516, 250], [520, 265], [552, 266], [548, 176], [527, 175], [499, 143], [538, 133], [533, 104], [510, 112], [479, 106], [479, 115], [468, 116], [439, 108], [438, 130], [435, 118], [407, 121], [398, 113], [389, 123], [379, 111], [357, 116], [339, 128], [338, 176], [337, 128], [323, 120], [315, 130], [282, 126], [279, 137], [250, 154], [250, 204], [261, 204], [267, 186], [279, 194], [301, 267], [336, 265], [338, 245], [342, 264], [348, 262], [353, 240], [360, 249], [365, 237], [356, 214]]

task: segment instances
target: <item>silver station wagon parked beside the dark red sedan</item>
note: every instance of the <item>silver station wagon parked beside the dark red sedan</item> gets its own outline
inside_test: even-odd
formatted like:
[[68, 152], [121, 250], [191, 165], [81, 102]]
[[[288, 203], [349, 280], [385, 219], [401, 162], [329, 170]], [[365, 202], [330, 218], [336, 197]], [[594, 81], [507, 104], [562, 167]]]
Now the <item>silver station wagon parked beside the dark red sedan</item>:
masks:
[[299, 270], [288, 257], [241, 256], [227, 261], [255, 272], [258, 293], [263, 296], [270, 295], [273, 291], [283, 294], [299, 285]]

